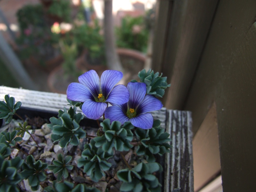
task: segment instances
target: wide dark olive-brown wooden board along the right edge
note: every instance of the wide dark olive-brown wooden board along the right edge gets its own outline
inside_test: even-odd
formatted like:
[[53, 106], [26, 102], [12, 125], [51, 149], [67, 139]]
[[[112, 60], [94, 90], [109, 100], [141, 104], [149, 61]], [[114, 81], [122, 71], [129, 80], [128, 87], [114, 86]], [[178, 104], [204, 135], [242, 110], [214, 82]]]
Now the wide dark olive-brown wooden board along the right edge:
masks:
[[222, 186], [228, 192], [255, 189], [255, 7], [255, 0], [220, 0], [185, 107], [192, 111], [195, 133], [215, 101]]

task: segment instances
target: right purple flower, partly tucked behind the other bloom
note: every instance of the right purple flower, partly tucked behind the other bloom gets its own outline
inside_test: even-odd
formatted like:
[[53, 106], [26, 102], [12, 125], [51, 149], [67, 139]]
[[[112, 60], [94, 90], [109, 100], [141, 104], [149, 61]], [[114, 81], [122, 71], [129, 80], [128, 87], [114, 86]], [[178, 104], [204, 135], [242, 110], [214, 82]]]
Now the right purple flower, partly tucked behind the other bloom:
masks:
[[120, 121], [122, 124], [130, 121], [135, 127], [150, 129], [153, 126], [153, 116], [150, 111], [159, 110], [163, 104], [153, 95], [145, 95], [147, 92], [145, 83], [128, 83], [130, 100], [122, 105], [108, 107], [105, 118]]

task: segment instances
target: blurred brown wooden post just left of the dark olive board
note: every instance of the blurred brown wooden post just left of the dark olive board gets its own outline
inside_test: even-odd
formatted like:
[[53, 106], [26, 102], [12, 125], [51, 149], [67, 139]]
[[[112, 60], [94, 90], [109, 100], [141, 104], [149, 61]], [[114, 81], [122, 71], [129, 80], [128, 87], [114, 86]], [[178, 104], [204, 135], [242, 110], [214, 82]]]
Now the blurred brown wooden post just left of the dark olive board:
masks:
[[[218, 0], [173, 1], [166, 40], [159, 42], [163, 48], [154, 49], [153, 55], [160, 56], [152, 62], [156, 66], [153, 68], [163, 72], [171, 83], [163, 99], [167, 108], [183, 108], [217, 3]], [[160, 35], [156, 33], [155, 37]]]

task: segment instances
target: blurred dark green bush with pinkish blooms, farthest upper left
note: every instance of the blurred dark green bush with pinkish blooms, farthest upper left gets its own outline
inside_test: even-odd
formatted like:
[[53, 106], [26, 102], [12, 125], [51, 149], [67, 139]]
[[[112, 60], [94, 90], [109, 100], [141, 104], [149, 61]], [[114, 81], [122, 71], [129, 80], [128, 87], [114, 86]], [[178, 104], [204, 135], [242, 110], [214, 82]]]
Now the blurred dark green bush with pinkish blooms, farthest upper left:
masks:
[[28, 4], [20, 8], [16, 15], [20, 28], [20, 36], [16, 39], [19, 58], [25, 60], [34, 56], [44, 65], [47, 59], [55, 56], [53, 45], [58, 42], [58, 38], [51, 32], [43, 6]]

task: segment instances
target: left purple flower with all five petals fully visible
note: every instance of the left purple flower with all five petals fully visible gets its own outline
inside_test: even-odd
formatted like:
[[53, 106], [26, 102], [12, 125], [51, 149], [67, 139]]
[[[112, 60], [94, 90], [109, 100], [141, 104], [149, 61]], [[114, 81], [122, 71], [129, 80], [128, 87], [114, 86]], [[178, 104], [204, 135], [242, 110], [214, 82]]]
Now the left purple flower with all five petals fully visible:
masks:
[[84, 102], [82, 111], [91, 119], [99, 119], [107, 108], [107, 103], [121, 105], [129, 100], [129, 91], [124, 85], [116, 85], [123, 73], [115, 70], [104, 71], [101, 78], [90, 70], [78, 77], [79, 83], [68, 85], [67, 98]]

